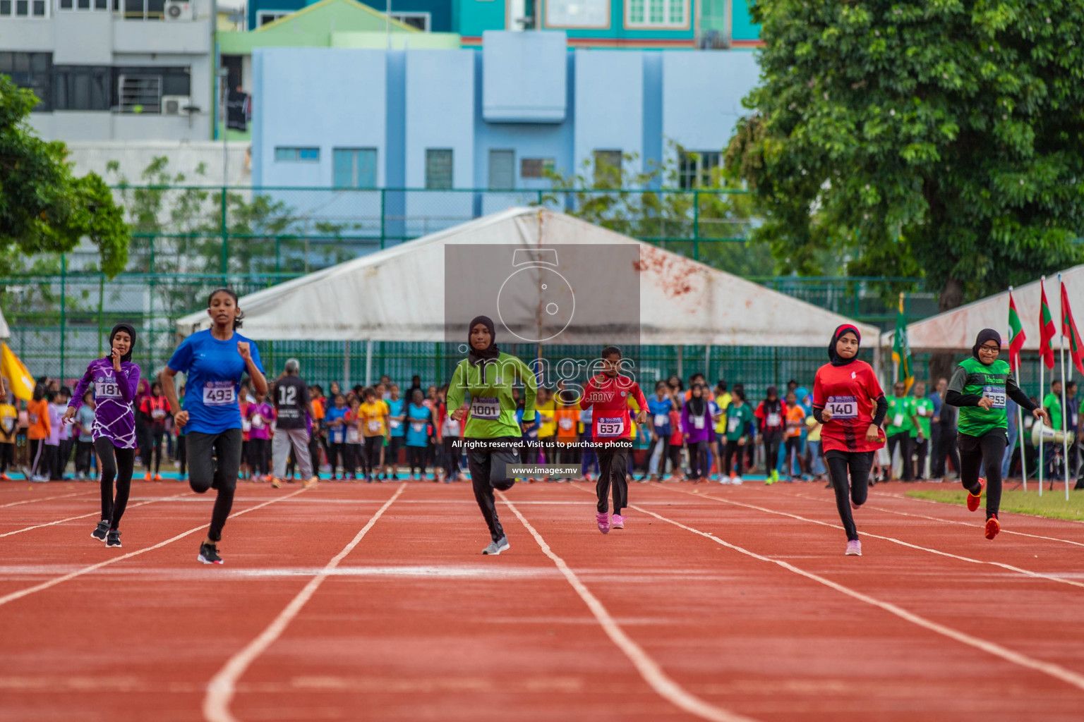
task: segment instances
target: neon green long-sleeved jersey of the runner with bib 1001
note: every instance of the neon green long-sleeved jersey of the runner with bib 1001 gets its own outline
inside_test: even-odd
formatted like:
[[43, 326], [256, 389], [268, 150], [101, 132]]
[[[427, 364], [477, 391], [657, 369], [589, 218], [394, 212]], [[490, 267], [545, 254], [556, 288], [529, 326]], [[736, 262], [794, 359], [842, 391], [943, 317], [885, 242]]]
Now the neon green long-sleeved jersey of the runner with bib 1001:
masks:
[[452, 381], [448, 385], [448, 415], [463, 406], [470, 395], [470, 419], [463, 430], [465, 438], [498, 438], [519, 436], [516, 422], [516, 402], [512, 398], [512, 384], [517, 379], [524, 382], [524, 421], [534, 420], [534, 396], [538, 382], [534, 371], [512, 354], [502, 353], [486, 363], [482, 378], [481, 366], [474, 366], [464, 358], [455, 367]]

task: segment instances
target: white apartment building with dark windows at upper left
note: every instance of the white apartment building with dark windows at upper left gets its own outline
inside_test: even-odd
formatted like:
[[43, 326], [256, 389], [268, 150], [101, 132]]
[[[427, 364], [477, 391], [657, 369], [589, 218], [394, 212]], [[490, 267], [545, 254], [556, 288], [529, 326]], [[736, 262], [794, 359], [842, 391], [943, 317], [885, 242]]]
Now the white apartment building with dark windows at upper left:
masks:
[[214, 0], [0, 0], [0, 74], [46, 140], [208, 141]]

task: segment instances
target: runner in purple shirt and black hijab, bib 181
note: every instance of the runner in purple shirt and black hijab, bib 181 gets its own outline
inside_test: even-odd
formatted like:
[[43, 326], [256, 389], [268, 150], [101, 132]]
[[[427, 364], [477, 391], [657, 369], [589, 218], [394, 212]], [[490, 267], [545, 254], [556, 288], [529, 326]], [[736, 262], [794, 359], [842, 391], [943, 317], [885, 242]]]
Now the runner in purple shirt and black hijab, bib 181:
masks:
[[[139, 386], [139, 366], [131, 362], [136, 346], [136, 329], [129, 324], [117, 324], [109, 331], [109, 347], [105, 358], [96, 358], [75, 389], [64, 423], [72, 423], [82, 406], [82, 396], [94, 393], [94, 425], [90, 435], [102, 472], [102, 521], [90, 536], [104, 541], [106, 547], [120, 547], [120, 517], [128, 506], [131, 490], [132, 468], [136, 465], [136, 409], [132, 401]], [[116, 480], [116, 497], [113, 482]]]

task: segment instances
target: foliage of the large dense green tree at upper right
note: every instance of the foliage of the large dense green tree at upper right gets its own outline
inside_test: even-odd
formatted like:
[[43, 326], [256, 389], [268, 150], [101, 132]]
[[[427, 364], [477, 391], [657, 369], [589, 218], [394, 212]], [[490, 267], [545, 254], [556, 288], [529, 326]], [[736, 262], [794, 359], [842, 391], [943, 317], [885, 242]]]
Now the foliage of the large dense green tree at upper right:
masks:
[[784, 270], [925, 276], [942, 310], [1076, 263], [1084, 3], [761, 0], [726, 154]]

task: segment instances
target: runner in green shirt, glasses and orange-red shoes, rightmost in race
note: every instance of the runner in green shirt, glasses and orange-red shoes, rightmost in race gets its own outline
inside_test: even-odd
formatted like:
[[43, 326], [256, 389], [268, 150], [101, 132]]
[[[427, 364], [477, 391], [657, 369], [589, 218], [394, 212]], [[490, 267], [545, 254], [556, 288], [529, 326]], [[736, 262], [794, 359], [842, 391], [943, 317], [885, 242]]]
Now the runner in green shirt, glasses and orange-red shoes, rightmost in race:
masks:
[[[1049, 415], [1035, 406], [1020, 390], [1009, 365], [997, 358], [1002, 336], [992, 328], [979, 331], [966, 358], [953, 370], [945, 404], [959, 407], [959, 481], [967, 489], [967, 509], [979, 508], [982, 488], [986, 488], [988, 539], [1001, 531], [997, 512], [1002, 501], [1002, 459], [1008, 445], [1008, 418], [1005, 399], [1011, 398], [1036, 419], [1049, 423]], [[979, 477], [980, 464], [986, 478]]]

